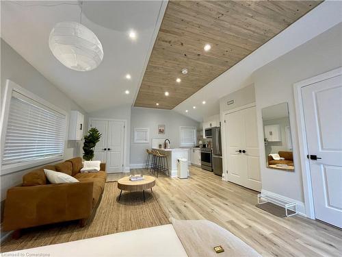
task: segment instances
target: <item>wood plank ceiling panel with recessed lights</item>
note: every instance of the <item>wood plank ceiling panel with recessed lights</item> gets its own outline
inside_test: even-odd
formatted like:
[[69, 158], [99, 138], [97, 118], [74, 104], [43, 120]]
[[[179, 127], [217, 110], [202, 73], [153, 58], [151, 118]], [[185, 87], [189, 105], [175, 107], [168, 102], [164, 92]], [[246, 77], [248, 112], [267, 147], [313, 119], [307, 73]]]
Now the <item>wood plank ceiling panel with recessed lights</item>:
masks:
[[135, 106], [176, 107], [319, 3], [169, 1]]

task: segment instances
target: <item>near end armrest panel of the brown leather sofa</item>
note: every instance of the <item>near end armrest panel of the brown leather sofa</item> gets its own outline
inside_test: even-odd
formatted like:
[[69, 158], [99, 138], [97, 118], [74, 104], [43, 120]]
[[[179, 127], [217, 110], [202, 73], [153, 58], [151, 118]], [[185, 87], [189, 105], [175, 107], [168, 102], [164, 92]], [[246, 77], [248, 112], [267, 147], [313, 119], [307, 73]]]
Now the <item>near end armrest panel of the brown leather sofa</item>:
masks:
[[92, 191], [92, 181], [10, 188], [3, 230], [87, 219], [92, 214]]

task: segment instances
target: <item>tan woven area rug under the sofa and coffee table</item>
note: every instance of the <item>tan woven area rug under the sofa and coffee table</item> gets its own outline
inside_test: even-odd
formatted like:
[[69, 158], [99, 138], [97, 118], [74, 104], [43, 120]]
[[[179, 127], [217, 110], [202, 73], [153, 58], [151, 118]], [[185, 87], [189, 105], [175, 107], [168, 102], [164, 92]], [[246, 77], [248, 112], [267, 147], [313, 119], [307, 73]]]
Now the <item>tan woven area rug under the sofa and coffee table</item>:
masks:
[[170, 223], [157, 197], [154, 196], [155, 192], [145, 192], [146, 202], [142, 198], [142, 192], [122, 192], [121, 199], [118, 201], [119, 194], [117, 183], [107, 182], [96, 213], [84, 228], [79, 227], [78, 221], [29, 228], [23, 230], [21, 238], [17, 240], [9, 238], [8, 241], [1, 243], [1, 252], [65, 243]]

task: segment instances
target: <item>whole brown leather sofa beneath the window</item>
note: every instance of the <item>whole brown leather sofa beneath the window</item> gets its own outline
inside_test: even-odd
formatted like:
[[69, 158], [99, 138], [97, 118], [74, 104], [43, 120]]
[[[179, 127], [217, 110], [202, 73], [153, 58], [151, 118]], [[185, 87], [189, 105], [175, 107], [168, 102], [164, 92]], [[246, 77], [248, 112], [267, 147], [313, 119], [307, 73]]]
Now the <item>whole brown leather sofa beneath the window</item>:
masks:
[[[85, 225], [103, 193], [107, 173], [105, 163], [101, 163], [101, 171], [96, 173], [80, 173], [81, 168], [82, 159], [73, 158], [25, 174], [23, 184], [8, 189], [3, 230], [77, 219]], [[79, 182], [50, 184], [44, 169], [67, 173]]]

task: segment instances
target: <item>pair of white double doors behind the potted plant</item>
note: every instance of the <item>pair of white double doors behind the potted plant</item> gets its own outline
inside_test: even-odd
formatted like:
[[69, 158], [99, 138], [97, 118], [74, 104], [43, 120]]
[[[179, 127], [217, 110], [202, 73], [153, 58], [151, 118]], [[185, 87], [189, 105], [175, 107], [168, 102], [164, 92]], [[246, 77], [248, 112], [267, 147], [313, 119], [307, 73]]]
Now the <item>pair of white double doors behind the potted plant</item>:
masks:
[[106, 163], [108, 173], [122, 172], [124, 167], [124, 121], [90, 119], [90, 127], [102, 134], [94, 149], [94, 160]]

